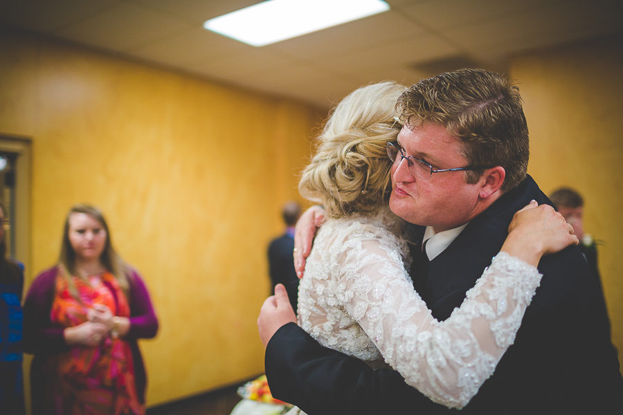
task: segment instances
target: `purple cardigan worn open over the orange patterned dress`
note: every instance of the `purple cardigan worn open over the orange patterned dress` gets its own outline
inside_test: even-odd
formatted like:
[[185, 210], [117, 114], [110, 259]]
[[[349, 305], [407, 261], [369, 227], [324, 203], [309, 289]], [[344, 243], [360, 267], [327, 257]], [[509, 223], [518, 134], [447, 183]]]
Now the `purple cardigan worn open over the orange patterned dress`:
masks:
[[[50, 321], [50, 311], [56, 289], [56, 275], [58, 268], [49, 268], [37, 276], [30, 285], [28, 295], [24, 300], [24, 335], [22, 338], [24, 351], [33, 353], [33, 365], [30, 368], [30, 383], [33, 390], [33, 405], [40, 401], [43, 391], [44, 376], [42, 365], [45, 357], [56, 353], [69, 351], [71, 347], [65, 344], [64, 328], [53, 326]], [[141, 403], [145, 403], [145, 385], [147, 377], [145, 364], [138, 349], [136, 339], [153, 338], [158, 331], [158, 319], [147, 287], [136, 270], [129, 268], [129, 306], [130, 329], [124, 340], [132, 349], [134, 358], [134, 376], [136, 378], [136, 393]], [[33, 414], [36, 414], [33, 406]]]

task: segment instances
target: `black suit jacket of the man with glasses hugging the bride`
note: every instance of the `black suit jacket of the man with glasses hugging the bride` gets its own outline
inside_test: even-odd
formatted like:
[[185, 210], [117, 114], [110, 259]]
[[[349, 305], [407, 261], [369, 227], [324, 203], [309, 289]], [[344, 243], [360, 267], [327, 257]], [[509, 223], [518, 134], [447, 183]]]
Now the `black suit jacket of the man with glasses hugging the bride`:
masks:
[[[415, 281], [437, 320], [465, 293], [500, 250], [514, 213], [530, 200], [550, 203], [528, 176], [473, 219]], [[543, 257], [543, 274], [514, 344], [463, 414], [623, 414], [623, 378], [608, 319], [577, 247]], [[266, 351], [273, 396], [307, 414], [437, 414], [451, 412], [406, 385], [397, 371], [321, 347], [296, 324], [282, 326]]]

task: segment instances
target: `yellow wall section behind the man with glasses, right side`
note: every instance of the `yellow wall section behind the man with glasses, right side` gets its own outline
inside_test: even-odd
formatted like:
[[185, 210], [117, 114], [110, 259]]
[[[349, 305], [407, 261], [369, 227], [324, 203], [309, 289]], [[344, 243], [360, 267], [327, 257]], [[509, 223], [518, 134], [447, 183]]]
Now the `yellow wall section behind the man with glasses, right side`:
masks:
[[[545, 193], [575, 187], [584, 196], [584, 232], [601, 239], [599, 270], [623, 362], [623, 37], [517, 57], [530, 128], [530, 165]], [[581, 329], [581, 328], [579, 328]]]

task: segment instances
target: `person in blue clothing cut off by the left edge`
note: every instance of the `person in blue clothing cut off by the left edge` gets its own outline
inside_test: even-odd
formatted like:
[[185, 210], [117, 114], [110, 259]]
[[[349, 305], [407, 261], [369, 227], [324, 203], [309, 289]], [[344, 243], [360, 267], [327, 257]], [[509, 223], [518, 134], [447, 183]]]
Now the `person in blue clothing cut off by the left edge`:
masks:
[[21, 415], [25, 413], [21, 372], [24, 266], [6, 257], [5, 216], [6, 208], [0, 202], [0, 412]]

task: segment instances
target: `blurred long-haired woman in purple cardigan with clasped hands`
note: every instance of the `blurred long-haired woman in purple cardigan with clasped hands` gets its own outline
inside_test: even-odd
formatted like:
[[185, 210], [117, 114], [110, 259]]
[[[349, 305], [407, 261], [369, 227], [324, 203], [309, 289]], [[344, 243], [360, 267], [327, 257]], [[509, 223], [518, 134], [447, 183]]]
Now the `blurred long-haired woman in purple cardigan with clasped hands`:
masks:
[[115, 252], [100, 210], [73, 206], [58, 264], [24, 302], [33, 414], [145, 414], [136, 340], [157, 330], [143, 279]]

